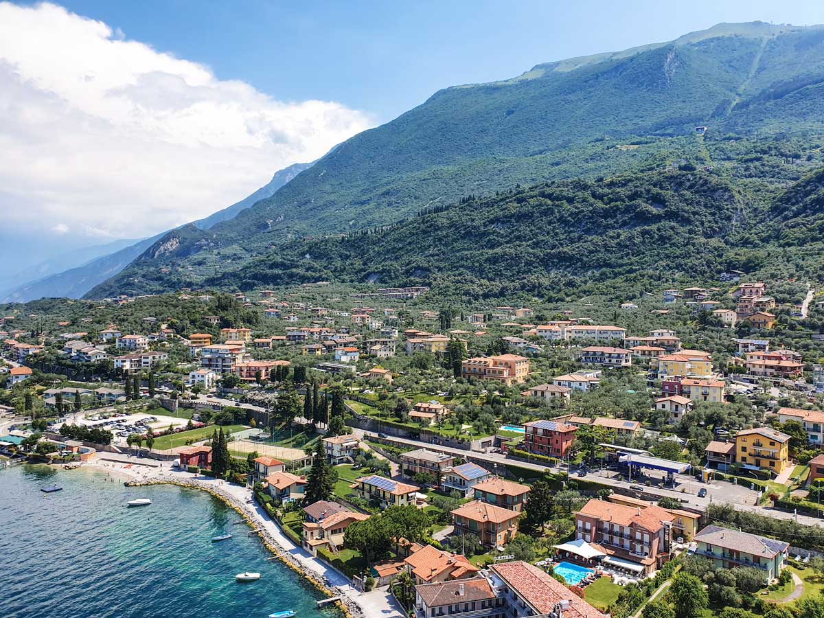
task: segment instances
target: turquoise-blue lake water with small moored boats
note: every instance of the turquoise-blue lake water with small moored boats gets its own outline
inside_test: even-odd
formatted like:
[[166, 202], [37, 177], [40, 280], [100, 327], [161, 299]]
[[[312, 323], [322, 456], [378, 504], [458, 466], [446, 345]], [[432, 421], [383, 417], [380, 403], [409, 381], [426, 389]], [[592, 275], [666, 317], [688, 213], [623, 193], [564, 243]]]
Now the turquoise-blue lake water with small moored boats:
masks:
[[[63, 491], [43, 494], [57, 483]], [[126, 508], [136, 498], [152, 505]], [[333, 618], [319, 592], [271, 554], [220, 500], [173, 485], [128, 488], [105, 472], [0, 471], [3, 618]], [[212, 543], [212, 536], [232, 539]], [[255, 583], [235, 574], [256, 571]]]

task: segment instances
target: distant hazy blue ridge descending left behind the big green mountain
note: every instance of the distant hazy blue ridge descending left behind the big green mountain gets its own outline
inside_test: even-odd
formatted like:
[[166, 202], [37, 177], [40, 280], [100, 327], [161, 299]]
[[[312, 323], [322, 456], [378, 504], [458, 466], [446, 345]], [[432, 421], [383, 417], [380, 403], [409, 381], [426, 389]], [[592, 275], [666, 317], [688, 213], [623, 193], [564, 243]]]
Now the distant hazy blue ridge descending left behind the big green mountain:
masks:
[[[228, 221], [255, 202], [271, 197], [289, 180], [312, 165], [314, 163], [295, 163], [277, 171], [269, 183], [247, 198], [183, 227], [208, 230], [219, 222]], [[0, 302], [28, 302], [43, 297], [80, 298], [97, 284], [114, 277], [153, 243], [170, 233], [172, 232], [162, 232], [141, 241], [115, 241], [108, 245], [89, 247], [26, 269], [10, 279], [5, 290], [0, 290]], [[66, 269], [67, 265], [72, 268]]]

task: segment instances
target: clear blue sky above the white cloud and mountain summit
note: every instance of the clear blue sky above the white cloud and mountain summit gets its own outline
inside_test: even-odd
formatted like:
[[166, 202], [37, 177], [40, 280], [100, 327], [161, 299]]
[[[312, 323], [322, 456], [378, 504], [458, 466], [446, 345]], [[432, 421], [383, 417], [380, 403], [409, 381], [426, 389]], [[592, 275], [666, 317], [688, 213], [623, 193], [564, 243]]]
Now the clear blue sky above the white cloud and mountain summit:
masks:
[[822, 2], [184, 2], [73, 0], [129, 39], [279, 100], [339, 101], [386, 122], [439, 88], [672, 40], [721, 21], [824, 22]]

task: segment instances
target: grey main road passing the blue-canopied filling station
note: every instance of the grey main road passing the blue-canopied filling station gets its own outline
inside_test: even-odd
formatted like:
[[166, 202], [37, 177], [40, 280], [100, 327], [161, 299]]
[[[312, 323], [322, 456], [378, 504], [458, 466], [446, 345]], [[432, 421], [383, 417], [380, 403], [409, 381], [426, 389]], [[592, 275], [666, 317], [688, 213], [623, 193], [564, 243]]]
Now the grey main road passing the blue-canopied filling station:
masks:
[[[367, 436], [371, 438], [377, 437], [376, 433], [363, 431], [362, 429], [353, 429], [354, 433], [360, 436]], [[471, 458], [475, 461], [485, 461], [488, 464], [492, 464], [494, 466], [494, 471], [496, 473], [503, 475], [503, 467], [501, 466], [519, 466], [522, 468], [527, 468], [528, 470], [534, 470], [539, 472], [550, 471], [550, 472], [558, 472], [558, 467], [553, 466], [543, 466], [541, 464], [526, 462], [526, 461], [513, 461], [512, 459], [508, 459], [501, 453], [484, 453], [484, 452], [470, 452], [465, 451], [461, 448], [454, 448], [454, 447], [445, 447], [439, 444], [429, 444], [428, 442], [420, 442], [419, 440], [412, 440], [410, 438], [396, 438], [395, 436], [387, 436], [386, 439], [389, 442], [395, 442], [396, 444], [404, 444], [405, 446], [415, 447], [415, 448], [427, 448], [430, 451], [438, 451], [448, 453], [450, 455], [457, 455], [464, 458]], [[616, 472], [613, 471], [597, 471], [588, 474], [586, 480], [599, 483], [601, 485], [606, 485], [607, 487], [612, 488], [622, 488], [626, 491], [631, 492], [630, 485], [636, 485], [635, 483], [630, 483], [627, 480], [624, 480], [623, 477], [618, 475]], [[681, 501], [686, 499], [685, 504], [689, 505], [692, 508], [698, 508], [701, 511], [705, 511], [707, 507], [712, 503], [723, 503], [723, 504], [732, 504], [738, 510], [743, 511], [751, 511], [752, 513], [758, 513], [760, 515], [765, 515], [767, 517], [775, 517], [777, 519], [796, 519], [798, 523], [806, 524], [808, 526], [822, 526], [824, 525], [824, 520], [818, 517], [809, 517], [807, 515], [798, 515], [795, 516], [793, 513], [785, 513], [783, 511], [775, 511], [771, 508], [764, 508], [758, 506], [756, 504], [757, 499], [757, 492], [751, 489], [747, 489], [742, 485], [733, 485], [732, 483], [725, 483], [723, 481], [717, 481], [715, 483], [700, 483], [699, 481], [695, 480], [693, 477], [688, 475], [676, 475], [676, 479], [679, 482], [679, 489], [663, 489], [661, 487], [644, 487], [644, 494], [648, 498], [663, 498], [668, 496], [670, 498], [675, 498]], [[698, 497], [698, 490], [704, 488], [707, 489], [707, 495], [705, 498]]]

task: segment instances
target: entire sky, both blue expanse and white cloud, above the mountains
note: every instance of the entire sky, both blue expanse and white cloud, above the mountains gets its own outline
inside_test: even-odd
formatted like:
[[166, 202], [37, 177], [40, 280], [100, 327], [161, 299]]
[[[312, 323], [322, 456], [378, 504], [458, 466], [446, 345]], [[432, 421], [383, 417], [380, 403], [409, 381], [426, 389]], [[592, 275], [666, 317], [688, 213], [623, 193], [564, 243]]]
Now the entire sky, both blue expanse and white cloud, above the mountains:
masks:
[[440, 88], [756, 20], [824, 23], [824, 2], [0, 0], [0, 291], [206, 217]]

